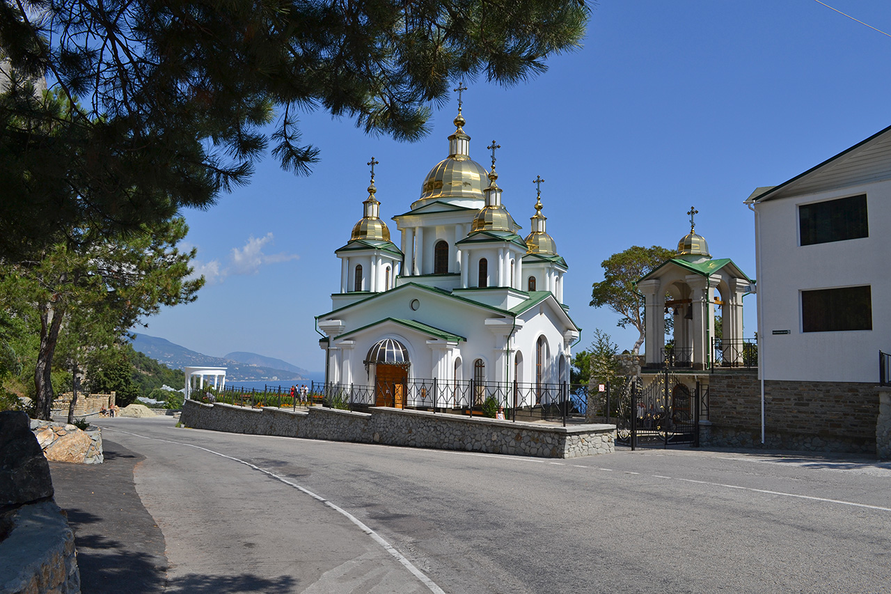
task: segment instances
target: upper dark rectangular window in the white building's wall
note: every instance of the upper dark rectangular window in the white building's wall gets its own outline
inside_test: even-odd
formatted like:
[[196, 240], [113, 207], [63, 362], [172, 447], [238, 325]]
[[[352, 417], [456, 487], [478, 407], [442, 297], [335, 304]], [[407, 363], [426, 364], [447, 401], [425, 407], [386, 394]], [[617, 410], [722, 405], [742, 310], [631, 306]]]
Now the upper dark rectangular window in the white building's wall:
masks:
[[866, 194], [798, 206], [801, 244], [841, 242], [870, 236]]

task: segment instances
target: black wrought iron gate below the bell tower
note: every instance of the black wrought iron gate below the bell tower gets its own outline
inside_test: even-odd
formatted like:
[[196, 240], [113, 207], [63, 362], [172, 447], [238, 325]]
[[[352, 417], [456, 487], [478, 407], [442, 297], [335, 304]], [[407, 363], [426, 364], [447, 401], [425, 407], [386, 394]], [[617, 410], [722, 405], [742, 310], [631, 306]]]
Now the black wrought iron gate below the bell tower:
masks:
[[699, 446], [699, 383], [690, 388], [667, 369], [651, 375], [646, 387], [640, 377], [630, 382], [630, 395], [618, 410], [617, 442], [635, 448]]

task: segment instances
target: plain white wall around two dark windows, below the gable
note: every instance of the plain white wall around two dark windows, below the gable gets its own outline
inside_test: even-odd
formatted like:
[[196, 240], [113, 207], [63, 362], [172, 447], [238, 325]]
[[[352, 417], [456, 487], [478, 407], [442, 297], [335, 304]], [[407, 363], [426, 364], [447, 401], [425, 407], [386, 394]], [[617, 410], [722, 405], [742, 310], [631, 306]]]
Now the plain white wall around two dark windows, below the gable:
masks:
[[[799, 245], [799, 204], [857, 194], [867, 195], [869, 237]], [[891, 182], [770, 200], [755, 208], [764, 378], [878, 382], [879, 350], [891, 351]], [[871, 285], [872, 330], [802, 332], [802, 290], [855, 285]]]

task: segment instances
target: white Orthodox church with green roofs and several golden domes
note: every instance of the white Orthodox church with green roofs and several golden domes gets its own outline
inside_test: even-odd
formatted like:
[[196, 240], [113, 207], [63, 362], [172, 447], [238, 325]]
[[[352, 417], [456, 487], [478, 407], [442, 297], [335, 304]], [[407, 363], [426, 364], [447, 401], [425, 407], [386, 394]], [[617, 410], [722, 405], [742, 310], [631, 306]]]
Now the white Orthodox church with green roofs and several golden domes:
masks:
[[579, 329], [563, 304], [566, 261], [545, 231], [544, 180], [535, 180], [524, 239], [496, 183], [499, 146], [489, 147], [486, 170], [470, 159], [464, 124], [459, 100], [448, 157], [424, 177], [410, 210], [393, 217], [398, 246], [380, 219], [372, 158], [363, 217], [335, 251], [340, 290], [316, 317], [326, 382], [351, 393], [363, 386], [368, 404], [473, 406], [499, 393], [519, 407], [518, 385], [569, 380]]

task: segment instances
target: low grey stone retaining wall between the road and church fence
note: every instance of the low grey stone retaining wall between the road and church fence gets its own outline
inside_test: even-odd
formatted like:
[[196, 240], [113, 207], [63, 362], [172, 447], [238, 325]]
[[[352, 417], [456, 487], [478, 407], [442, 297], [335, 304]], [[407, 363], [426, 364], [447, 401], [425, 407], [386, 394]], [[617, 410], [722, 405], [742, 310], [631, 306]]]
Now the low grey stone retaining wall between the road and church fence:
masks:
[[616, 441], [616, 425], [560, 427], [383, 407], [368, 413], [323, 407], [292, 412], [186, 400], [180, 422], [194, 429], [229, 433], [539, 458], [608, 454], [615, 451]]

